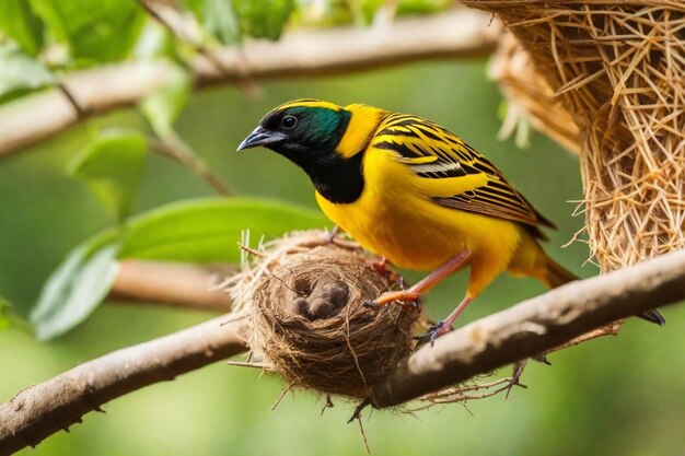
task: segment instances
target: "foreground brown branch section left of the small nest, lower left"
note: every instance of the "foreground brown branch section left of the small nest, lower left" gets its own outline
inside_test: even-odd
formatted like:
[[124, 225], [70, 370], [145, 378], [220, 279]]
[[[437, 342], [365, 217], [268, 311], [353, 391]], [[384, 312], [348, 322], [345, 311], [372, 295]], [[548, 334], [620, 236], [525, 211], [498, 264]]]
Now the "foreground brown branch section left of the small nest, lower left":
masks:
[[245, 350], [242, 323], [222, 316], [81, 364], [0, 405], [0, 456], [35, 446], [103, 404]]

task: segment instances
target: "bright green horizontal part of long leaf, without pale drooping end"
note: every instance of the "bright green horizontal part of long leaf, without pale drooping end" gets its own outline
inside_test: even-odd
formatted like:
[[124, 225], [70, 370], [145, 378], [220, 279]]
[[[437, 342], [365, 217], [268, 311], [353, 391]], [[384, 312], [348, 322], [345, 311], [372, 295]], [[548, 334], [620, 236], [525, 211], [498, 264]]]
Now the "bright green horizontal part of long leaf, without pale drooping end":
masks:
[[202, 198], [169, 204], [132, 220], [119, 258], [237, 262], [244, 230], [254, 241], [293, 230], [321, 227], [317, 211], [248, 198]]

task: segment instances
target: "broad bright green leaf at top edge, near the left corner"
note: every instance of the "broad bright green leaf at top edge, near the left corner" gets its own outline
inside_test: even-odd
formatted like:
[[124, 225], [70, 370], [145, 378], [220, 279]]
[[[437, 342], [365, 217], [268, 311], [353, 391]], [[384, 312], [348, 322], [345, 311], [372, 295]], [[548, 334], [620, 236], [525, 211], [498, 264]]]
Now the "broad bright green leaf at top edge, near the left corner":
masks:
[[31, 0], [31, 4], [55, 38], [66, 42], [71, 56], [82, 63], [126, 57], [144, 21], [132, 0]]

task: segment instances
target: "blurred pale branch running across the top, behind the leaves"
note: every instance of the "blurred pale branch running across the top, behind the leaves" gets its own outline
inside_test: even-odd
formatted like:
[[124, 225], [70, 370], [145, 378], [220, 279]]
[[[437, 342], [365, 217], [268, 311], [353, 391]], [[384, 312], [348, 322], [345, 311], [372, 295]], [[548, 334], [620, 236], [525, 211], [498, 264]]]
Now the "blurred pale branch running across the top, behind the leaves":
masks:
[[[473, 10], [454, 10], [423, 19], [397, 21], [384, 28], [299, 32], [281, 40], [252, 42], [199, 55], [191, 65], [196, 89], [245, 79], [314, 77], [379, 69], [426, 59], [489, 54], [498, 23]], [[220, 66], [217, 65], [220, 63]], [[0, 157], [43, 141], [89, 115], [131, 106], [167, 81], [170, 63], [131, 61], [79, 71], [61, 84], [80, 107], [55, 89], [0, 107]]]

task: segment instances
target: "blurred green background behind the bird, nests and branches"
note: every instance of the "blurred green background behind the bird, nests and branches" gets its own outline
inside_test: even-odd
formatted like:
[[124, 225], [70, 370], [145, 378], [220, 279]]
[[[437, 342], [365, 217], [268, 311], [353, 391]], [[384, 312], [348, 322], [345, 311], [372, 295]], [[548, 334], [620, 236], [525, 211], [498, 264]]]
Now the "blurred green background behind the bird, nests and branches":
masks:
[[[535, 135], [516, 149], [495, 139], [497, 87], [486, 81], [485, 60], [413, 65], [373, 73], [264, 84], [252, 101], [234, 89], [193, 96], [177, 130], [240, 195], [315, 207], [305, 175], [265, 150], [235, 153], [239, 142], [272, 106], [298, 97], [339, 104], [363, 102], [428, 117], [490, 157], [559, 231], [546, 245], [552, 256], [582, 276], [584, 245], [568, 242], [581, 226], [571, 218], [581, 198], [578, 160]], [[0, 162], [0, 291], [27, 314], [48, 273], [111, 217], [66, 164], [95, 128], [144, 128], [133, 110], [95, 118], [60, 137]], [[1, 139], [0, 139], [1, 140]], [[178, 164], [150, 155], [138, 210], [211, 195]], [[245, 226], [248, 227], [248, 226]], [[413, 274], [413, 278], [418, 277]], [[446, 314], [463, 295], [464, 277], [431, 292], [429, 314]], [[460, 323], [473, 320], [543, 292], [532, 280], [500, 278]], [[373, 455], [681, 455], [685, 430], [685, 306], [664, 309], [663, 328], [631, 320], [615, 339], [556, 353], [553, 366], [532, 364], [511, 397], [422, 411], [364, 413]], [[107, 303], [73, 331], [42, 343], [26, 332], [0, 332], [0, 400], [112, 350], [169, 334], [208, 314]], [[509, 367], [504, 374], [509, 373]], [[352, 406], [320, 417], [321, 398], [288, 395], [275, 410], [281, 382], [253, 370], [218, 363], [117, 399], [106, 414], [60, 432], [22, 455], [356, 455], [363, 454], [357, 424], [346, 424]], [[0, 423], [1, 425], [1, 423]]]

